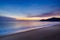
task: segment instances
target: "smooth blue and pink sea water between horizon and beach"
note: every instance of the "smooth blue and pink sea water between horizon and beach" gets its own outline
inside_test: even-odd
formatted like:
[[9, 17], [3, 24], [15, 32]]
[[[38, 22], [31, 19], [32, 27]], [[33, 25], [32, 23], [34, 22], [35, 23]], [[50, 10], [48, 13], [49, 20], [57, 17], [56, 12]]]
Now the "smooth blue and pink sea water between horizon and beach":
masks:
[[32, 28], [49, 27], [55, 24], [59, 24], [59, 22], [2, 22], [0, 23], [0, 35], [12, 34]]

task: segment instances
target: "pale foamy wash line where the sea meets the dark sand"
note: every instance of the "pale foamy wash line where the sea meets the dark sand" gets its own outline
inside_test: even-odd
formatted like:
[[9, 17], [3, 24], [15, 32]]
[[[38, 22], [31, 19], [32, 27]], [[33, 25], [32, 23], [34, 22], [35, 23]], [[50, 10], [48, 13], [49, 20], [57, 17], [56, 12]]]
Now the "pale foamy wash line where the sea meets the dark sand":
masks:
[[[16, 32], [13, 32], [13, 33], [10, 33], [7, 35], [12, 35], [12, 34], [20, 33], [20, 32], [26, 32], [26, 31], [30, 31], [30, 30], [36, 30], [36, 29], [45, 28], [45, 27], [51, 27], [51, 26], [58, 25], [58, 24], [59, 23], [55, 23], [55, 24], [51, 24], [51, 25], [44, 25], [41, 27], [37, 26], [37, 27], [32, 27], [32, 28], [28, 28], [28, 29], [24, 29], [24, 30], [18, 30]], [[7, 36], [7, 35], [0, 35], [0, 36]]]

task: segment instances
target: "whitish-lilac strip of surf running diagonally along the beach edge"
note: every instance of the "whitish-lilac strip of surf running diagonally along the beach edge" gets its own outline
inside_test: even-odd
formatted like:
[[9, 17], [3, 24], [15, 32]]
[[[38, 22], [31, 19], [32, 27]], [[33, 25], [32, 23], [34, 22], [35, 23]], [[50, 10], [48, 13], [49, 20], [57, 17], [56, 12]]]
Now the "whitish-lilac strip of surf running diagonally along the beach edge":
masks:
[[[6, 35], [12, 35], [12, 34], [20, 33], [20, 32], [26, 32], [26, 31], [35, 30], [35, 29], [40, 29], [40, 28], [45, 28], [45, 27], [51, 27], [51, 26], [58, 25], [58, 24], [59, 24], [59, 22], [55, 22], [55, 23], [51, 23], [51, 24], [48, 24], [48, 25], [31, 27], [31, 28], [27, 28], [27, 29], [23, 29], [23, 30], [18, 30], [18, 31], [15, 31], [15, 32], [12, 32], [12, 33], [8, 33]], [[0, 36], [6, 36], [6, 35], [2, 34]]]

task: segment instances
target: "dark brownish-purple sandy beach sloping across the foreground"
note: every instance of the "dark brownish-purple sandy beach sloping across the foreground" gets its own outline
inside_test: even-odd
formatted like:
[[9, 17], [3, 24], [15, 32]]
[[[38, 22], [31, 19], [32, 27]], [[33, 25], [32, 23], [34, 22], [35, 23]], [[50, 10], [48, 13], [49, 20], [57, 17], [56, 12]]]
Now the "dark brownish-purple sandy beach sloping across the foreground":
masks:
[[60, 40], [60, 25], [7, 35], [0, 40]]

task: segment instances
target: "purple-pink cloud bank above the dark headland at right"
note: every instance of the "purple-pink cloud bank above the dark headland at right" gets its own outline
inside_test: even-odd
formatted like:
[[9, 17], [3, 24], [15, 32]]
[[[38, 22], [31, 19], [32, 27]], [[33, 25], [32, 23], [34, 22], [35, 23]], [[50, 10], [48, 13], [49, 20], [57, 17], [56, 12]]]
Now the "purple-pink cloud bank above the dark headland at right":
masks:
[[44, 13], [42, 15], [35, 15], [31, 17], [60, 17], [60, 10], [55, 10], [49, 13]]

